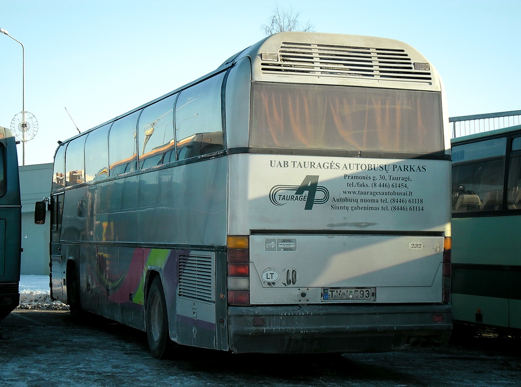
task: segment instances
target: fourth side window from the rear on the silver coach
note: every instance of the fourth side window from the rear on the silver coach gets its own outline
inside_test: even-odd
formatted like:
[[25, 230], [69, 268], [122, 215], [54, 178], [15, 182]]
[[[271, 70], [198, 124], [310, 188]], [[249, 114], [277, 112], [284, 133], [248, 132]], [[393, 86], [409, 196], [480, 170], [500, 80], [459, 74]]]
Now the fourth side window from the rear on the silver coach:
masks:
[[90, 132], [85, 140], [85, 181], [108, 176], [108, 129], [110, 124]]

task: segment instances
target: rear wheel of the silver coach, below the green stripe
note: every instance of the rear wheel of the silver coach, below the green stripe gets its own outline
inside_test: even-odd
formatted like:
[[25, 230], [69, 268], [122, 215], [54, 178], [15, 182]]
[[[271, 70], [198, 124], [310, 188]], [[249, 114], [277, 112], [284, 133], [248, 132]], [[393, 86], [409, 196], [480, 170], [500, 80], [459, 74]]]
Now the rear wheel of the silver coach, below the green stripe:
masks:
[[163, 359], [170, 347], [168, 316], [163, 285], [159, 277], [154, 278], [146, 298], [146, 336], [152, 356]]

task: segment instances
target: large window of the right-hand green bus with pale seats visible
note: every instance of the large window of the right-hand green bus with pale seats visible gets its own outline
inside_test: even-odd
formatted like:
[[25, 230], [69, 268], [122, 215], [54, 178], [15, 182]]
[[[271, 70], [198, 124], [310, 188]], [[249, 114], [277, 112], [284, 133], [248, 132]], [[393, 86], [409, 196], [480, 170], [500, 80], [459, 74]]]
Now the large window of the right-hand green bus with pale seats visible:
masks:
[[452, 148], [452, 212], [503, 207], [506, 138]]

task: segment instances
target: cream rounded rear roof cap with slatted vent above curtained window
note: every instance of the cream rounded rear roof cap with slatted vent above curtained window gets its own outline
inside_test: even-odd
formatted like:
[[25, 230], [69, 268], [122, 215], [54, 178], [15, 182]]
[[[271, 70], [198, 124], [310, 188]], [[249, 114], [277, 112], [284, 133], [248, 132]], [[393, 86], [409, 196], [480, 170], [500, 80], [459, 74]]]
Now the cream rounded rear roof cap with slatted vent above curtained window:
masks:
[[[252, 80], [441, 91], [438, 73], [410, 45], [381, 37], [281, 32], [228, 59], [252, 60]], [[375, 82], [377, 81], [377, 82]]]

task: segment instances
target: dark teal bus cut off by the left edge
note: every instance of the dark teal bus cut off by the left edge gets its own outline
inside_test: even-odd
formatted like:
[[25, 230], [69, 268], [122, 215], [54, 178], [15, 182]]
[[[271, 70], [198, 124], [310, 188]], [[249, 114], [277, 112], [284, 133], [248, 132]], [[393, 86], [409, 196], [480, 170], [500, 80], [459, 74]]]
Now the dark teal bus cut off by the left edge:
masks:
[[0, 126], [0, 320], [20, 302], [21, 208], [16, 139]]

